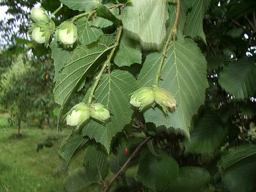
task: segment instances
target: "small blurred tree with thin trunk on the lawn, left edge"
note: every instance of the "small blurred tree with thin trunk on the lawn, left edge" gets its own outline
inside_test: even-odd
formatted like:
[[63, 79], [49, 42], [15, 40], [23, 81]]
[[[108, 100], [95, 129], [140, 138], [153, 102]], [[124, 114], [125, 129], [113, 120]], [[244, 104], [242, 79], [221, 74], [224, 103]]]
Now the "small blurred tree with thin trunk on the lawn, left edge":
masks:
[[0, 101], [2, 105], [9, 107], [11, 120], [18, 125], [19, 133], [21, 122], [25, 121], [27, 113], [32, 107], [30, 97], [35, 90], [27, 89], [27, 87], [31, 83], [29, 77], [34, 72], [35, 69], [31, 64], [24, 63], [22, 55], [20, 55], [11, 68], [1, 76]]

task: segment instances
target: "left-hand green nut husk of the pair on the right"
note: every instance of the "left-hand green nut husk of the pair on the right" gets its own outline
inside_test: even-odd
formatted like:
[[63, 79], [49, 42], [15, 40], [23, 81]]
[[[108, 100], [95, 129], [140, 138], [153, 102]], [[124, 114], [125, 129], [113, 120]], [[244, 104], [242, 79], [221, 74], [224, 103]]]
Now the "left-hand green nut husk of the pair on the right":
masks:
[[130, 103], [135, 107], [139, 107], [139, 110], [142, 110], [144, 107], [152, 104], [154, 99], [154, 91], [149, 87], [142, 87], [133, 93]]

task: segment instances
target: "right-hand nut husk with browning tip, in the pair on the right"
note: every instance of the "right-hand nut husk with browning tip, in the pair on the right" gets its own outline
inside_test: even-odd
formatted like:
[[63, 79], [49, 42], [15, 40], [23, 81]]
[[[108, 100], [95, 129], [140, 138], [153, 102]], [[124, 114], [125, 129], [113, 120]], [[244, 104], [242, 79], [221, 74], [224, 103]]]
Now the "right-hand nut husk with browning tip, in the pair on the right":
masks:
[[168, 108], [172, 111], [176, 110], [176, 101], [174, 96], [163, 88], [156, 88], [155, 102], [162, 107], [165, 113], [167, 113]]

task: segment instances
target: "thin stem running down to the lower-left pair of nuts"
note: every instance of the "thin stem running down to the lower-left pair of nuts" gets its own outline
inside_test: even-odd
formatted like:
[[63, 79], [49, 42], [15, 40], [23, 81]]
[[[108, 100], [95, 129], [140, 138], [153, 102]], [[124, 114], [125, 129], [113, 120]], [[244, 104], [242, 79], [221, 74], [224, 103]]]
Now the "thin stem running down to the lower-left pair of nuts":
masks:
[[[103, 72], [104, 72], [104, 70], [106, 69], [107, 66], [110, 67], [110, 61], [111, 61], [111, 59], [112, 59], [112, 57], [113, 57], [113, 55], [114, 55], [114, 53], [115, 53], [115, 50], [116, 50], [116, 48], [117, 48], [117, 45], [119, 44], [119, 40], [120, 40], [120, 37], [121, 37], [121, 34], [122, 34], [122, 30], [123, 30], [123, 26], [120, 26], [120, 27], [119, 27], [119, 30], [118, 30], [118, 32], [117, 32], [117, 40], [116, 40], [116, 43], [112, 46], [112, 50], [111, 50], [110, 54], [108, 55], [108, 58], [107, 58], [106, 62], [103, 64], [103, 66], [102, 66], [102, 68], [101, 68], [101, 71], [100, 71], [100, 73], [97, 75], [96, 80], [95, 80], [95, 82], [94, 82], [94, 84], [93, 84], [91, 93], [90, 93], [90, 95], [89, 95], [88, 104], [90, 104], [91, 101], [92, 101], [94, 91], [96, 90], [96, 87], [97, 87], [97, 85], [98, 85], [98, 83], [99, 83], [99, 81], [100, 81], [100, 79], [101, 79], [101, 75], [103, 74]], [[109, 69], [109, 70], [110, 70], [110, 69]]]

